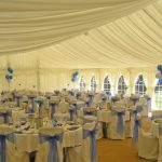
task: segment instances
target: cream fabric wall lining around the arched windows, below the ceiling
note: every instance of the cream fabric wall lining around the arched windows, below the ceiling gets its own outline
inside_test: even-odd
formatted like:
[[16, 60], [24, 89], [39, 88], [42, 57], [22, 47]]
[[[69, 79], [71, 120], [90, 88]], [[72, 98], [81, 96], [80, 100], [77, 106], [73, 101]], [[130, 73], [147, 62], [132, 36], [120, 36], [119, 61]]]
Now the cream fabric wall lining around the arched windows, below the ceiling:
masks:
[[[134, 85], [136, 78], [139, 73], [144, 75], [144, 79], [146, 81], [147, 93], [151, 96], [153, 95], [153, 87], [156, 82], [156, 67], [152, 68], [130, 68], [130, 69], [82, 69], [79, 70], [80, 76], [84, 77], [84, 81], [86, 84], [85, 90], [90, 90], [90, 81], [92, 76], [95, 76], [97, 90], [103, 90], [103, 81], [106, 75], [108, 75], [110, 83], [111, 83], [111, 92], [116, 94], [118, 92], [117, 84], [119, 77], [121, 75], [124, 76], [126, 81], [126, 85], [129, 86], [129, 93], [134, 93]], [[62, 89], [73, 89], [73, 83], [71, 82], [71, 73], [70, 69], [39, 69], [40, 75], [40, 91], [54, 91]], [[11, 90], [13, 89], [25, 89], [30, 90], [32, 85], [36, 85], [38, 89], [38, 79], [37, 70], [16, 70], [14, 73], [14, 79], [11, 81]], [[8, 90], [8, 82], [5, 80], [5, 72], [0, 71], [1, 86], [0, 90]], [[79, 87], [79, 81], [76, 84]], [[21, 86], [18, 85], [21, 83]], [[68, 85], [69, 84], [69, 85]]]

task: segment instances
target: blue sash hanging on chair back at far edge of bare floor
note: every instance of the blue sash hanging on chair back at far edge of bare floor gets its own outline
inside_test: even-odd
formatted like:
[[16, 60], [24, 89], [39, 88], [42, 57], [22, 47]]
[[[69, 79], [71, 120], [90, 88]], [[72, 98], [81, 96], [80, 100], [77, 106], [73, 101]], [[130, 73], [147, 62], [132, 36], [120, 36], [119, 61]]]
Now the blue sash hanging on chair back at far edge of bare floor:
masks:
[[119, 134], [122, 134], [124, 132], [124, 122], [123, 122], [123, 116], [125, 114], [125, 111], [113, 111], [112, 114], [118, 116], [118, 122], [117, 122], [117, 132]]

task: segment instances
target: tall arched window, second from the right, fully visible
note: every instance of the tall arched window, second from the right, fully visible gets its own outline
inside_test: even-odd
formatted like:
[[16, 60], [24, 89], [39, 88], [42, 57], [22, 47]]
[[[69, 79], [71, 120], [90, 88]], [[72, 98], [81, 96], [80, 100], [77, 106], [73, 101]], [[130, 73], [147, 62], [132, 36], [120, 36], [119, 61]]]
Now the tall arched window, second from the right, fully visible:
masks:
[[135, 94], [145, 95], [145, 93], [146, 93], [145, 81], [143, 75], [139, 75], [135, 84]]

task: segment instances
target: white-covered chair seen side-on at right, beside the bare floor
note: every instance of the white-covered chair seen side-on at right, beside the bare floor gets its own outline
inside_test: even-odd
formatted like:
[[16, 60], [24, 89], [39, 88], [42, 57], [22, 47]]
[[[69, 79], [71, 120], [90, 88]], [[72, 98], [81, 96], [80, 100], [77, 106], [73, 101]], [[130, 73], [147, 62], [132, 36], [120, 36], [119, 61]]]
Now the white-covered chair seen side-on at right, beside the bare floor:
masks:
[[[137, 121], [140, 118], [138, 116]], [[146, 133], [141, 125], [139, 125], [138, 131], [138, 157], [157, 160], [158, 159], [158, 150], [159, 150], [159, 140], [153, 136], [151, 132]]]

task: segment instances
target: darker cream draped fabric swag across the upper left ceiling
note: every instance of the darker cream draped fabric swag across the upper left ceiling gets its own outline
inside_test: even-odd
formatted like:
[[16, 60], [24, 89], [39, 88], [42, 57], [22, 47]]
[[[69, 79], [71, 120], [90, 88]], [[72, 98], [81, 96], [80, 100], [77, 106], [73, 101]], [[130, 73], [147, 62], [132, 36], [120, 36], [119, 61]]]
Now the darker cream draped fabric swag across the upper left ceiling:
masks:
[[62, 42], [129, 15], [154, 1], [0, 1], [0, 55], [23, 53]]

